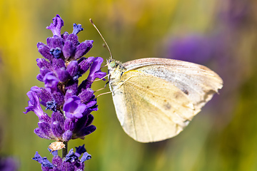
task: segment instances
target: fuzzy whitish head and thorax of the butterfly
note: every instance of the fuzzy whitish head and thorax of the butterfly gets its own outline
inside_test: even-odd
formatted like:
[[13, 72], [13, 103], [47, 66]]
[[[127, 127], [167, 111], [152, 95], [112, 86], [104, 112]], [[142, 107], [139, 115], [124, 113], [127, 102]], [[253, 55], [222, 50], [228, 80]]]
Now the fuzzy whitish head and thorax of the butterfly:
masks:
[[110, 90], [112, 91], [119, 84], [122, 74], [126, 72], [126, 68], [120, 61], [116, 61], [115, 59], [109, 59], [107, 61], [107, 66], [109, 74], [109, 86]]

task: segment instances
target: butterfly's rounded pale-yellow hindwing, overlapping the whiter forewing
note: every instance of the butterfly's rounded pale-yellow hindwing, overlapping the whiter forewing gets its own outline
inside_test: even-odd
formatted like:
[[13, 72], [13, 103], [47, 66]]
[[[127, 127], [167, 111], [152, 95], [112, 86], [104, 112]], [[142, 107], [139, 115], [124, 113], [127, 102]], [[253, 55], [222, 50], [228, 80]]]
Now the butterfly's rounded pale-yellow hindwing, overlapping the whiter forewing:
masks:
[[127, 71], [116, 84], [116, 114], [124, 131], [139, 142], [176, 136], [193, 118], [195, 109], [188, 96], [162, 78]]

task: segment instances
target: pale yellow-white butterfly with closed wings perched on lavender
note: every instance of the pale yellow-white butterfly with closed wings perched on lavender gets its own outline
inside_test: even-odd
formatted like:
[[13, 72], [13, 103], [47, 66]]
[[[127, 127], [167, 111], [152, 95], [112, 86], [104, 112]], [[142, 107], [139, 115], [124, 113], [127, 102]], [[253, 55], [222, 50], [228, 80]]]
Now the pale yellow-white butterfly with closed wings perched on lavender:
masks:
[[107, 65], [116, 114], [124, 131], [138, 142], [178, 135], [223, 86], [209, 68], [185, 61], [110, 59]]

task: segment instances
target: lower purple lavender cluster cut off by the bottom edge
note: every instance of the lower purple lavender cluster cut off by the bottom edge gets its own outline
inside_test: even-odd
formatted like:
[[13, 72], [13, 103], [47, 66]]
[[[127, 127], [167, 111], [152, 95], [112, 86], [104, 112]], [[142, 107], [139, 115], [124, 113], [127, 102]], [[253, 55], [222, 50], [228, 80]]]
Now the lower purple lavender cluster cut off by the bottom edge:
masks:
[[[51, 152], [51, 150], [49, 150]], [[84, 145], [76, 147], [76, 152], [71, 148], [65, 159], [62, 160], [59, 157], [57, 151], [51, 152], [54, 155], [52, 162], [46, 157], [41, 157], [39, 152], [36, 152], [33, 160], [36, 160], [41, 164], [42, 170], [84, 170], [84, 162], [91, 159], [91, 155], [86, 152]], [[82, 155], [81, 159], [79, 157]]]

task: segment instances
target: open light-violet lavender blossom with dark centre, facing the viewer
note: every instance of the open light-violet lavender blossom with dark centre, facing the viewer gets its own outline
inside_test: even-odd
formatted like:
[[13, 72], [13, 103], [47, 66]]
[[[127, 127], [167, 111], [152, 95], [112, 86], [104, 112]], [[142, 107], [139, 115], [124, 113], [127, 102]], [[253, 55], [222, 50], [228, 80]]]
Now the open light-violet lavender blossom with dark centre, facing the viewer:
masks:
[[64, 103], [64, 114], [67, 118], [82, 118], [86, 105], [81, 103], [81, 99], [73, 95]]

